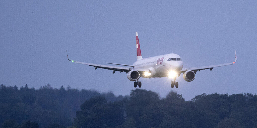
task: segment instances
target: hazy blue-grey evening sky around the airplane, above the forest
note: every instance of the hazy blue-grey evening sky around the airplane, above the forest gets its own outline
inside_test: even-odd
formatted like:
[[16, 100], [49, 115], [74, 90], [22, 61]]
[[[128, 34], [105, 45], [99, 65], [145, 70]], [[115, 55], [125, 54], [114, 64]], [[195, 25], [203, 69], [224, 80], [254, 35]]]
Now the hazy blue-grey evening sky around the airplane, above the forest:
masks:
[[257, 93], [256, 1], [0, 2], [0, 83], [36, 89], [48, 83], [126, 95], [135, 89], [126, 73], [94, 70], [90, 63], [133, 64], [135, 32], [142, 57], [176, 53], [185, 68], [235, 61], [201, 70], [192, 82], [141, 78], [142, 89], [186, 100], [202, 93]]

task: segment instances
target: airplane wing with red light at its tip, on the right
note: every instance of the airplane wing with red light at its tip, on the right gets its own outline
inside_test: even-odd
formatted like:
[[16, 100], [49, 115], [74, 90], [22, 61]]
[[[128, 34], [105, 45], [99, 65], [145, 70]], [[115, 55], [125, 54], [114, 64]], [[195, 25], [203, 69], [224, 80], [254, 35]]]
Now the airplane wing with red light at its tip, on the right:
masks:
[[[235, 52], [235, 56], [236, 56], [236, 52]], [[235, 62], [236, 62], [236, 57], [235, 57]], [[212, 69], [215, 68], [215, 67], [233, 65], [235, 62], [232, 62], [232, 63], [223, 63], [223, 64], [219, 64], [219, 65], [203, 66], [203, 67], [183, 68], [179, 73], [184, 73], [184, 72], [186, 72], [187, 70], [192, 70], [192, 71], [194, 71], [195, 73], [196, 73], [196, 71], [205, 70], [205, 69], [210, 69], [210, 70], [212, 71]]]

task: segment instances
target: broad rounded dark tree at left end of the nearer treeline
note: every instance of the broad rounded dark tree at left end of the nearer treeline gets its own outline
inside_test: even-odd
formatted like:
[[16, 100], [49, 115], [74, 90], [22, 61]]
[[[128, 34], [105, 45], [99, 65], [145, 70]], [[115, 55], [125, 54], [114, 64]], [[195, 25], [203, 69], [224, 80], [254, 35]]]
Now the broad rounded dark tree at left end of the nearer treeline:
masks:
[[74, 126], [82, 128], [115, 127], [123, 123], [123, 111], [119, 102], [107, 102], [104, 97], [85, 101], [77, 111]]

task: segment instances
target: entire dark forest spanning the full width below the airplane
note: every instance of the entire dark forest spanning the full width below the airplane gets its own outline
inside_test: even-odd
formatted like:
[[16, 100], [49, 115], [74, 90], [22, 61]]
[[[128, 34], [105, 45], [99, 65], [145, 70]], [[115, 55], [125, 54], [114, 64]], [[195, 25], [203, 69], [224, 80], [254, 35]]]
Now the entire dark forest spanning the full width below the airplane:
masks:
[[257, 95], [200, 94], [189, 101], [144, 89], [129, 95], [0, 86], [1, 128], [257, 128]]

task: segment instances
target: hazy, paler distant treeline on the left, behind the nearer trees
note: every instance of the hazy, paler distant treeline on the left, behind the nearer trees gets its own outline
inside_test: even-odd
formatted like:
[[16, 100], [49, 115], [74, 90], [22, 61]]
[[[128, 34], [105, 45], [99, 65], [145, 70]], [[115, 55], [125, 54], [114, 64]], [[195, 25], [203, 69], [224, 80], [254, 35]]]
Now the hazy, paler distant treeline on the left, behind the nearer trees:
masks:
[[26, 84], [17, 86], [0, 85], [0, 127], [4, 121], [24, 124], [31, 121], [39, 127], [71, 126], [80, 105], [91, 97], [103, 96], [108, 102], [122, 100], [112, 92], [99, 93], [95, 90], [53, 89], [50, 84], [40, 89], [29, 88]]

